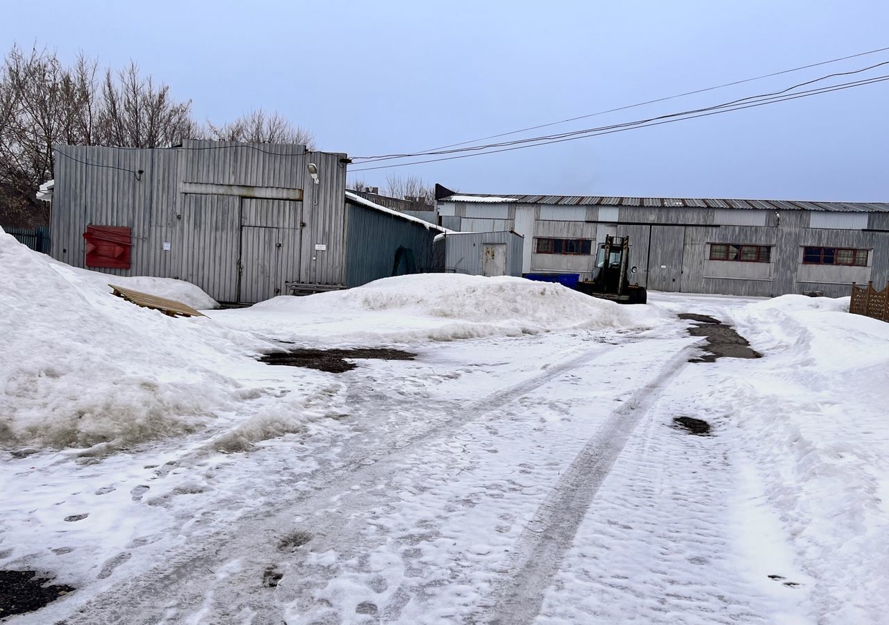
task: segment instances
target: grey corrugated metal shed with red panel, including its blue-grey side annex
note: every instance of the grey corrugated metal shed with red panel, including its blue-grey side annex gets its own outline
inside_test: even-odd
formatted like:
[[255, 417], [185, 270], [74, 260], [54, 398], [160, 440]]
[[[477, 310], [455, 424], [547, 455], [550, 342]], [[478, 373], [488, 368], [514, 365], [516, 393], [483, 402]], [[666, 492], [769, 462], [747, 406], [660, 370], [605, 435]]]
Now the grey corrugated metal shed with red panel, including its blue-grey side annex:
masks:
[[431, 258], [441, 228], [349, 201], [346, 164], [292, 144], [56, 146], [51, 255], [241, 303], [389, 276], [398, 247]]

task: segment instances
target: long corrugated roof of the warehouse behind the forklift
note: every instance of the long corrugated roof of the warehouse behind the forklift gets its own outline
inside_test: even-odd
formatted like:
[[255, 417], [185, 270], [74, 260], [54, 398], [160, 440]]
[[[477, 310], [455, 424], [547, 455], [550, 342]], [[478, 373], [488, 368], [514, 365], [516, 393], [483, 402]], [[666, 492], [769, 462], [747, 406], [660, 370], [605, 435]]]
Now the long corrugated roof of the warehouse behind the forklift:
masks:
[[741, 208], [761, 211], [889, 212], [889, 202], [797, 202], [689, 197], [534, 196], [455, 193], [436, 185], [436, 200], [485, 204], [559, 204], [567, 206], [642, 206], [669, 208]]

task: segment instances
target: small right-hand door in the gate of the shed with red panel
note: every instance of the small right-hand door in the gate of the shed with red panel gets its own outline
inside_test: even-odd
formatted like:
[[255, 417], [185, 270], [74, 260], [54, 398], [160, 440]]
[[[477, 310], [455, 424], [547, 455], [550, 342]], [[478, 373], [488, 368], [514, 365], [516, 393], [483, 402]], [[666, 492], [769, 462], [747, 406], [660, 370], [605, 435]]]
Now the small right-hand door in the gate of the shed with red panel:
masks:
[[239, 302], [255, 304], [279, 294], [275, 292], [282, 247], [278, 238], [278, 228], [241, 228]]

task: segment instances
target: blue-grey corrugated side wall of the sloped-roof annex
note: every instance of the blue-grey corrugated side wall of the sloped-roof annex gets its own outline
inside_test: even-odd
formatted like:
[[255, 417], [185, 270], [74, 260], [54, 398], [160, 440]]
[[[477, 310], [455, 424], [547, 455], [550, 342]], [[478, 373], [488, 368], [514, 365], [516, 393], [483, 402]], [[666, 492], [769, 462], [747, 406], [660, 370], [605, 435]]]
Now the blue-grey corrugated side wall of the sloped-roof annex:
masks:
[[357, 204], [346, 203], [346, 286], [392, 275], [399, 246], [413, 251], [420, 272], [432, 271], [432, 240], [438, 230]]

